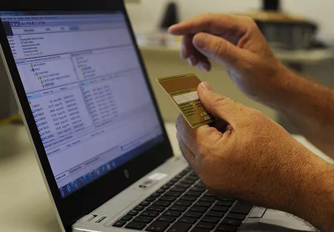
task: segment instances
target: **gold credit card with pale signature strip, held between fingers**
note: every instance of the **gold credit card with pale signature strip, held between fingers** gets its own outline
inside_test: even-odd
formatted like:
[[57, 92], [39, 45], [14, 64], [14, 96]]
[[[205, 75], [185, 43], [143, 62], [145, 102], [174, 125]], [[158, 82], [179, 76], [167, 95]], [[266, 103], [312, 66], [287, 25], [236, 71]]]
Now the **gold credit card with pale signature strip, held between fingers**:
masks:
[[158, 78], [157, 81], [173, 100], [192, 128], [215, 121], [203, 107], [197, 95], [201, 81], [195, 74]]

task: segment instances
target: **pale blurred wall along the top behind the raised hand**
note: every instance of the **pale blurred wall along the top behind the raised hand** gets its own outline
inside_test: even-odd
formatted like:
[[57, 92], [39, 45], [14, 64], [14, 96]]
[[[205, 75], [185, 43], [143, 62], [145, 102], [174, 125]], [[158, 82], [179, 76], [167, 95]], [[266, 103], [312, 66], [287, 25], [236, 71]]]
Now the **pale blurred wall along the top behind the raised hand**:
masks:
[[[261, 0], [141, 0], [140, 3], [127, 3], [134, 29], [138, 32], [153, 31], [161, 21], [166, 4], [171, 1], [177, 3], [181, 20], [205, 12], [256, 10], [262, 5]], [[334, 41], [334, 1], [282, 0], [282, 9], [318, 22], [318, 37], [327, 42]]]

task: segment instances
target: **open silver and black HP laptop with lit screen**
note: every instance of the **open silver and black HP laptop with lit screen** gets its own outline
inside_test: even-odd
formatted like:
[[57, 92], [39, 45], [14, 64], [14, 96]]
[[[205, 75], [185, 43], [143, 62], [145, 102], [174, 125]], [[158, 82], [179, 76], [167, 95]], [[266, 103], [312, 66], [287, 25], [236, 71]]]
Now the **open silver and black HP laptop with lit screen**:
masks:
[[0, 18], [2, 60], [62, 231], [301, 226], [214, 196], [173, 156], [122, 1], [5, 1]]

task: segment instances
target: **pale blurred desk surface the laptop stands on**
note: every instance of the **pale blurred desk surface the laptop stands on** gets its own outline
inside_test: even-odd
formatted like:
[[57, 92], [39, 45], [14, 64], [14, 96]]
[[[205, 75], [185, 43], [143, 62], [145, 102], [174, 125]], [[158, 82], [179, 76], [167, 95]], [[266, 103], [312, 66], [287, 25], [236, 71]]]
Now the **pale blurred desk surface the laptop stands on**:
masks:
[[[173, 123], [166, 123], [175, 154], [179, 153]], [[313, 152], [328, 158], [297, 136]], [[23, 125], [0, 126], [1, 231], [60, 231]]]

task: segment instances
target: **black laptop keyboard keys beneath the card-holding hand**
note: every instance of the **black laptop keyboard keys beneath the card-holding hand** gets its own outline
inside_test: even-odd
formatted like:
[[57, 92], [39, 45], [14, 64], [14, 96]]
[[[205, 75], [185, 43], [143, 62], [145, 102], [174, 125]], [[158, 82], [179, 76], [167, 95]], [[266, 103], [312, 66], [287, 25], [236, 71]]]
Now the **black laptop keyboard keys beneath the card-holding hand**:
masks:
[[187, 167], [112, 226], [157, 232], [234, 232], [252, 208], [212, 195]]

